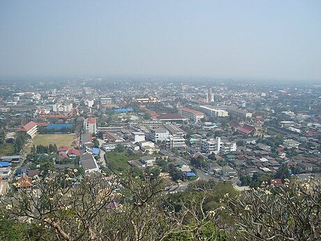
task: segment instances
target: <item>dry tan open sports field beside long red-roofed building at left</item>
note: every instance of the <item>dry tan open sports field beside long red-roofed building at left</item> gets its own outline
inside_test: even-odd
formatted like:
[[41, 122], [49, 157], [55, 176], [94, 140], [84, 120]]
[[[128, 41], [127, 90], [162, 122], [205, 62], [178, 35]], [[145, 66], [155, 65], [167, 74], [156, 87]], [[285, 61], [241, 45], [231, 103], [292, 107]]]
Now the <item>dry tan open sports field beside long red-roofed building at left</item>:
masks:
[[37, 146], [56, 144], [57, 147], [60, 147], [61, 145], [70, 147], [74, 136], [75, 134], [38, 134], [33, 138], [31, 145], [27, 146], [27, 153], [30, 152], [32, 145]]

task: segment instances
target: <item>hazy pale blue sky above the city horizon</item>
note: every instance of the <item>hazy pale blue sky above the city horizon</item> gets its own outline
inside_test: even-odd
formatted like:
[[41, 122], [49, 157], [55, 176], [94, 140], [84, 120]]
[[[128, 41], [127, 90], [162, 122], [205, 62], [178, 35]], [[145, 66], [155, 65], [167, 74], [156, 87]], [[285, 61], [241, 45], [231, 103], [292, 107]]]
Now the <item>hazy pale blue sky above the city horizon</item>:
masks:
[[321, 1], [0, 0], [0, 75], [321, 82]]

